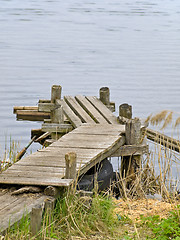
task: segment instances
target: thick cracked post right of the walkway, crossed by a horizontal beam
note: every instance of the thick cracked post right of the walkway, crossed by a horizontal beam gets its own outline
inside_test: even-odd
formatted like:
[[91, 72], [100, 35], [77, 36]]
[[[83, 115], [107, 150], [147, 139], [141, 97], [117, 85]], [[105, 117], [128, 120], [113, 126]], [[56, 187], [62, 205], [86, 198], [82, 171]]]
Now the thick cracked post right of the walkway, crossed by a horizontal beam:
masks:
[[[127, 145], [140, 145], [141, 143], [141, 121], [139, 118], [128, 120], [125, 125], [125, 136]], [[134, 153], [135, 154], [135, 153]], [[122, 161], [122, 176], [134, 180], [135, 172], [141, 167], [141, 155], [124, 157]]]

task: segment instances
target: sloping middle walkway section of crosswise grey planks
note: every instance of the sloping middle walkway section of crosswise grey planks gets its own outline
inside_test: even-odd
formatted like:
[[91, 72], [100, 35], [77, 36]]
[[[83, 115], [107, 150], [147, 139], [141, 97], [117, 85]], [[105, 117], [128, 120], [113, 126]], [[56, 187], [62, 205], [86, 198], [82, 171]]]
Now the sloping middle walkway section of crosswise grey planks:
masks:
[[82, 174], [124, 145], [123, 132], [124, 126], [120, 124], [82, 125], [49, 147], [13, 164], [0, 174], [0, 183], [68, 186], [72, 179], [64, 179], [66, 153], [76, 152], [77, 172]]

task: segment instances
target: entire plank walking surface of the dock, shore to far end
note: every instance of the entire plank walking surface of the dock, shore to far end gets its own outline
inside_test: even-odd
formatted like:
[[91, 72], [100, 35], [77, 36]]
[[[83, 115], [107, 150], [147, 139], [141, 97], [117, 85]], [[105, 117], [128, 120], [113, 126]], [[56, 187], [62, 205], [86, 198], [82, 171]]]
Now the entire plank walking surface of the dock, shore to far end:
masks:
[[[73, 179], [65, 179], [66, 153], [77, 154], [76, 172], [81, 175], [125, 144], [125, 127], [117, 123], [117, 118], [98, 98], [65, 96], [63, 100], [57, 100], [56, 104], [63, 107], [71, 123], [68, 127], [70, 132], [2, 172], [0, 184], [69, 186]], [[51, 103], [41, 103], [38, 111], [40, 107], [45, 113], [50, 113], [50, 108], [54, 108]], [[59, 124], [56, 128], [62, 129], [64, 125]], [[72, 131], [71, 126], [75, 128]], [[49, 127], [50, 124], [43, 124], [44, 129]], [[9, 192], [0, 191], [0, 232], [30, 213], [36, 204], [43, 205], [46, 198], [44, 195], [33, 198], [28, 195], [12, 196]]]

